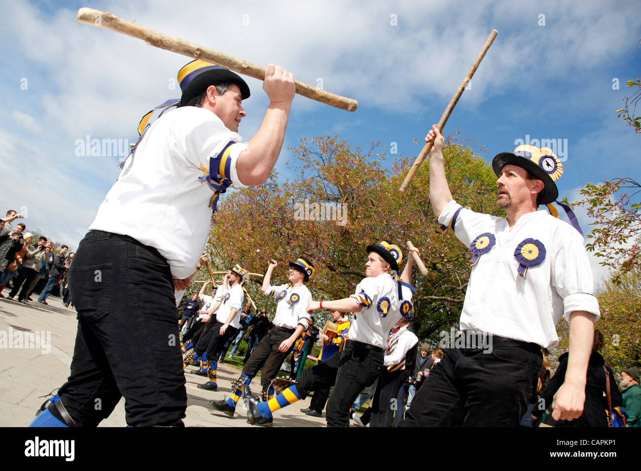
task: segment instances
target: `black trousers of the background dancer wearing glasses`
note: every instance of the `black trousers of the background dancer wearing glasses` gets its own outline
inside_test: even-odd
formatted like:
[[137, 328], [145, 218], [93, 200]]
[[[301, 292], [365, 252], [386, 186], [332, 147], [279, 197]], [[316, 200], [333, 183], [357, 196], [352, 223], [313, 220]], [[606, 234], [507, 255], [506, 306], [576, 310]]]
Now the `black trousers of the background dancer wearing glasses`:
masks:
[[[260, 375], [260, 385], [267, 388], [272, 379], [278, 374], [283, 360], [292, 351], [290, 348], [287, 352], [281, 352], [278, 347], [283, 340], [287, 340], [294, 333], [294, 329], [283, 329], [282, 327], [272, 327], [271, 331], [263, 337], [258, 343], [258, 347], [245, 363], [242, 372], [247, 376], [256, 376], [262, 366], [263, 372]], [[292, 343], [292, 346], [294, 344]]]

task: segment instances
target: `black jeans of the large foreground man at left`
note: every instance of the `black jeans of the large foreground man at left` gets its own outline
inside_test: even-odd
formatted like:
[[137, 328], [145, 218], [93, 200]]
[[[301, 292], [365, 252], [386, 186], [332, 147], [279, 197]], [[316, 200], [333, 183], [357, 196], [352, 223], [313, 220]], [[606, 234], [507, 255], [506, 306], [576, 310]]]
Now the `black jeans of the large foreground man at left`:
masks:
[[124, 396], [129, 426], [182, 426], [187, 392], [169, 264], [126, 236], [91, 231], [69, 272], [78, 311], [61, 400], [93, 427]]

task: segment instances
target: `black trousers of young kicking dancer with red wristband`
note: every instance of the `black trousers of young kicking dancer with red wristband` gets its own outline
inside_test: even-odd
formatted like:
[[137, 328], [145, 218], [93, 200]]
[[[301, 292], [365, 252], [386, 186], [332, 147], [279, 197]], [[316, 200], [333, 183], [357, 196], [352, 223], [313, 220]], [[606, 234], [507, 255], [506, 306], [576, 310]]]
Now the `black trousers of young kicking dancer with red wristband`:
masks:
[[329, 397], [328, 427], [349, 426], [349, 409], [358, 394], [371, 386], [383, 370], [383, 349], [367, 343], [349, 341], [344, 351], [327, 361], [304, 370], [296, 389], [301, 397], [309, 391], [334, 386]]

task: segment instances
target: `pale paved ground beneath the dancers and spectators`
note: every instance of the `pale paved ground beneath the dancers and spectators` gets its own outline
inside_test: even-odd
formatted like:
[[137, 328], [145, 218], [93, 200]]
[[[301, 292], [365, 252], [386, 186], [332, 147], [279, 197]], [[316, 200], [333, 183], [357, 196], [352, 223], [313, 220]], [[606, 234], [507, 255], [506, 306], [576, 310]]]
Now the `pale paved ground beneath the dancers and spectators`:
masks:
[[[4, 290], [7, 296], [9, 290]], [[60, 387], [69, 376], [69, 365], [76, 338], [76, 311], [65, 308], [58, 297], [49, 297], [48, 306], [34, 301], [21, 304], [0, 299], [0, 426], [27, 426], [44, 397]], [[17, 299], [17, 298], [16, 298]], [[29, 332], [35, 335], [29, 338]], [[41, 342], [40, 339], [44, 342]], [[50, 340], [49, 340], [50, 339]], [[188, 367], [187, 371], [194, 369]], [[196, 388], [203, 377], [186, 372], [188, 427], [251, 427], [242, 401], [236, 415], [229, 418], [207, 406], [210, 399], [222, 399], [231, 393], [230, 383], [238, 370], [225, 364], [218, 368], [218, 392]], [[256, 391], [260, 385], [256, 380]], [[299, 401], [274, 415], [274, 427], [324, 427], [325, 418], [309, 417], [300, 412], [310, 399]], [[124, 427], [124, 399], [101, 427]]]

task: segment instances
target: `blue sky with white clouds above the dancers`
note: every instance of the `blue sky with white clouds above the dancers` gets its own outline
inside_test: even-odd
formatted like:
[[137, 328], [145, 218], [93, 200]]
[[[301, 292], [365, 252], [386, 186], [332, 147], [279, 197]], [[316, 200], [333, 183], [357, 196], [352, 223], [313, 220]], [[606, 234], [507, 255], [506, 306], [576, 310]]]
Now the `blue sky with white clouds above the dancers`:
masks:
[[[389, 151], [395, 142], [410, 156], [420, 152], [414, 139], [422, 142], [438, 121], [495, 28], [499, 34], [445, 133], [477, 138], [488, 160], [526, 135], [567, 142], [558, 186], [570, 201], [587, 181], [638, 177], [641, 169], [640, 136], [615, 113], [631, 94], [625, 82], [639, 76], [637, 2], [5, 3], [0, 211], [26, 207], [28, 228], [72, 248], [118, 176], [117, 157], [78, 156], [76, 141], [90, 135], [135, 142], [140, 117], [178, 97], [171, 84], [190, 60], [78, 24], [81, 6], [249, 62], [278, 63], [301, 81], [316, 85], [320, 78], [324, 89], [358, 100], [349, 113], [297, 96], [285, 146], [338, 133], [363, 149], [373, 140]], [[247, 82], [252, 96], [240, 133], [249, 140], [267, 98], [259, 81]], [[291, 158], [283, 150], [276, 167], [283, 175]], [[579, 218], [585, 232], [588, 220]]]

